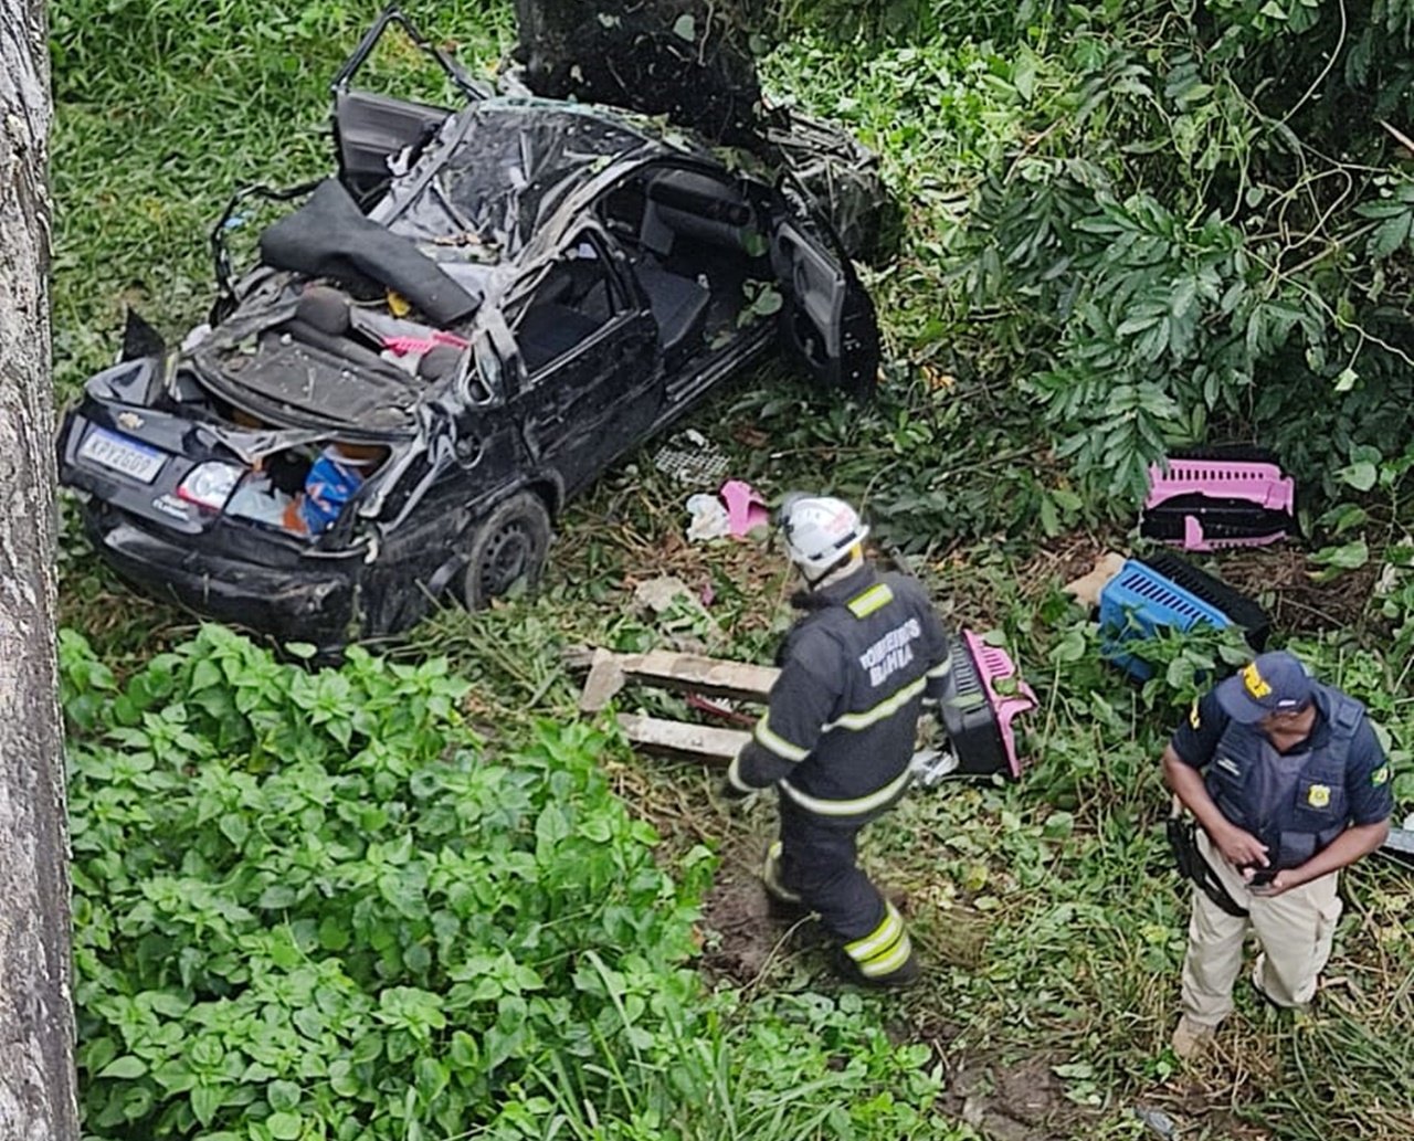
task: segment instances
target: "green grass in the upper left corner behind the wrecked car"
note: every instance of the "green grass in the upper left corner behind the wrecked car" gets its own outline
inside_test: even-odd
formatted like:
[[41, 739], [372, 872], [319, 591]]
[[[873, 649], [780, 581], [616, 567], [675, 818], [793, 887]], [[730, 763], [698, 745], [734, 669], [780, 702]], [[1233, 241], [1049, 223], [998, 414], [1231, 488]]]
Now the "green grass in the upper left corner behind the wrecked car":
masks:
[[[510, 45], [501, 4], [407, 8], [472, 71]], [[112, 359], [126, 305], [177, 337], [205, 315], [206, 239], [236, 189], [332, 170], [328, 83], [373, 14], [334, 0], [51, 6], [61, 393]], [[434, 75], [396, 31], [372, 82], [389, 71], [417, 83]]]

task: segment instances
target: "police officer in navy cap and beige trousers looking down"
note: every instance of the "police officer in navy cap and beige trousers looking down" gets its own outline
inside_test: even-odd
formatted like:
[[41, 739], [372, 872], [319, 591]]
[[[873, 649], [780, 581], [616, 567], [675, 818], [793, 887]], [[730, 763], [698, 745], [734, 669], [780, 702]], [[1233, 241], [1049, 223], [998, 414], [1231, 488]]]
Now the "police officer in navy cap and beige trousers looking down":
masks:
[[1261, 944], [1258, 993], [1280, 1007], [1311, 1001], [1340, 916], [1336, 872], [1384, 843], [1394, 800], [1365, 707], [1284, 652], [1193, 704], [1164, 751], [1164, 778], [1198, 820], [1213, 891], [1227, 895], [1220, 905], [1193, 891], [1174, 1031], [1174, 1052], [1189, 1059], [1233, 1008], [1249, 929]]

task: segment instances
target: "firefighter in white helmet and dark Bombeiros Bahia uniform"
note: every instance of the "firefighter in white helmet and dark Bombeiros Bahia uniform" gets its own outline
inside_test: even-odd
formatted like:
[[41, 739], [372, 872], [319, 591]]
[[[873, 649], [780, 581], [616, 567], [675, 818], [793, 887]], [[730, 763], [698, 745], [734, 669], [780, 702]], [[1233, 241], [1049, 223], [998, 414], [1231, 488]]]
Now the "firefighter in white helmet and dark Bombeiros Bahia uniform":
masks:
[[820, 915], [840, 940], [848, 980], [906, 985], [918, 977], [912, 943], [898, 909], [860, 870], [855, 840], [908, 788], [919, 707], [936, 700], [949, 670], [947, 638], [918, 583], [865, 561], [868, 527], [848, 503], [792, 495], [778, 523], [805, 578], [793, 599], [805, 614], [786, 635], [768, 710], [724, 792], [779, 789], [768, 892]]

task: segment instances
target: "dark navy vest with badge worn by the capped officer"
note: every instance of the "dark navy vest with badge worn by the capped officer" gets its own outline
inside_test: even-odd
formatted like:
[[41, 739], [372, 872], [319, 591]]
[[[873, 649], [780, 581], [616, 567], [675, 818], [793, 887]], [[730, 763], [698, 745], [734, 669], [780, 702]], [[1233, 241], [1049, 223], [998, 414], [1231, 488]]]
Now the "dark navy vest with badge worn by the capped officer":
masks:
[[1294, 788], [1268, 769], [1261, 730], [1237, 721], [1227, 722], [1203, 776], [1222, 814], [1266, 844], [1277, 870], [1307, 862], [1349, 823], [1346, 769], [1365, 706], [1326, 686], [1316, 686], [1315, 701], [1329, 734], [1307, 754]]

